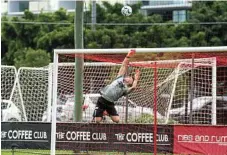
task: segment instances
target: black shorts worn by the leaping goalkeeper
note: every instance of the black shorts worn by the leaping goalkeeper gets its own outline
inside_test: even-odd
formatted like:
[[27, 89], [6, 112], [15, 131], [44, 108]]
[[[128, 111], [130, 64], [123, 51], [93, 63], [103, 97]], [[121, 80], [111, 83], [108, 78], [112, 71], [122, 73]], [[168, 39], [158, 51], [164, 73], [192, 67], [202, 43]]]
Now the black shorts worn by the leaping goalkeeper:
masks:
[[119, 116], [116, 108], [114, 107], [114, 103], [107, 101], [103, 97], [99, 97], [93, 117], [103, 117], [103, 112], [107, 111], [110, 116]]

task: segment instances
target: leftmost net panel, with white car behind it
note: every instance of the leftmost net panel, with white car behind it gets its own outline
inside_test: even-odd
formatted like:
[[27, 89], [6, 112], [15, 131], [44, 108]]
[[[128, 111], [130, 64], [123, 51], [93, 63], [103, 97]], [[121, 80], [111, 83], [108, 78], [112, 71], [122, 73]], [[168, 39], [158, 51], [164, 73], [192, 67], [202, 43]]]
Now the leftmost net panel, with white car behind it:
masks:
[[1, 66], [2, 121], [27, 120], [14, 66]]

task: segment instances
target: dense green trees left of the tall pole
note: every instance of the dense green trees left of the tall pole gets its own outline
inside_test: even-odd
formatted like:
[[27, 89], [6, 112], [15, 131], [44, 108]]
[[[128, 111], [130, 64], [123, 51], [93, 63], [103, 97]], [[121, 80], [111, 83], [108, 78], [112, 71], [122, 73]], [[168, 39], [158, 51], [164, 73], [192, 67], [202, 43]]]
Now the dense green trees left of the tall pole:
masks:
[[[3, 64], [14, 65], [14, 60], [20, 60], [18, 53], [23, 53], [26, 48], [34, 50], [43, 49], [51, 52], [54, 48], [73, 48], [73, 16], [64, 9], [55, 13], [40, 13], [35, 15], [25, 11], [24, 16], [7, 17], [3, 16], [2, 34], [4, 53]], [[19, 22], [19, 23], [14, 23]], [[25, 22], [25, 23], [20, 23]], [[29, 23], [26, 23], [29, 22]], [[31, 22], [31, 23], [30, 23]], [[32, 23], [35, 24], [32, 24]], [[47, 24], [36, 24], [36, 22], [47, 22]], [[48, 24], [49, 22], [66, 22], [69, 24]]]

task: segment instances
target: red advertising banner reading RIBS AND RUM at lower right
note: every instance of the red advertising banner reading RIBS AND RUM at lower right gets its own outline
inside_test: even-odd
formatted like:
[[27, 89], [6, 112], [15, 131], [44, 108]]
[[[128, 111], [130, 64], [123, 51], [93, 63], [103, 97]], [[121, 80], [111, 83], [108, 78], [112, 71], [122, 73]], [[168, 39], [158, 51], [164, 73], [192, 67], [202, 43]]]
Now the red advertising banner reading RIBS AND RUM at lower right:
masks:
[[227, 155], [227, 126], [174, 126], [174, 153]]

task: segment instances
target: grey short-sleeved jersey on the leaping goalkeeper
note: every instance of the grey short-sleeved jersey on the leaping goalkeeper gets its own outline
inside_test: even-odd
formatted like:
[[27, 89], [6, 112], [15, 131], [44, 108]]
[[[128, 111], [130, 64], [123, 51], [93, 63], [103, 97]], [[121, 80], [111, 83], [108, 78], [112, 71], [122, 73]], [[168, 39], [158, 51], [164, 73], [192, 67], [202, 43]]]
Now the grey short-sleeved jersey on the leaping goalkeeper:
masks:
[[102, 97], [110, 102], [115, 102], [123, 95], [127, 94], [128, 87], [123, 80], [123, 76], [118, 76], [111, 84], [104, 87], [101, 90]]

